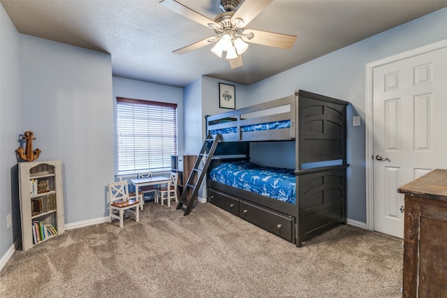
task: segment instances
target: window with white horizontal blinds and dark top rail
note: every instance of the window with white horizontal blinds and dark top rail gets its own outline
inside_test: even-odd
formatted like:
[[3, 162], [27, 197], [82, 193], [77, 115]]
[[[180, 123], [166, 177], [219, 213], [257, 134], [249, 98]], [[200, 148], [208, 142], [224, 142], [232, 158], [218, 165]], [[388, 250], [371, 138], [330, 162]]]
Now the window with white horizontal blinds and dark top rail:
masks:
[[168, 171], [177, 155], [177, 105], [117, 97], [117, 174]]

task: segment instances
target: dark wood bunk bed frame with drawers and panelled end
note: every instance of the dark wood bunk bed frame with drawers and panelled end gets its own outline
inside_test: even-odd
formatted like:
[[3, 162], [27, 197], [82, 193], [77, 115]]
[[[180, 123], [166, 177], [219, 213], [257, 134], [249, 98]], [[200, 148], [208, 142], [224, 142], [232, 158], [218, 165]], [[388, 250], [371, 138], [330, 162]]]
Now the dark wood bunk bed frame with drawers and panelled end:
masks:
[[[285, 98], [207, 116], [207, 134], [237, 127], [236, 133], [221, 134], [223, 140], [207, 170], [208, 202], [298, 247], [335, 225], [346, 224], [346, 168], [349, 166], [346, 164], [346, 105], [348, 102], [344, 100], [298, 90]], [[283, 106], [288, 106], [289, 111], [243, 118], [248, 113], [263, 111], [265, 114], [265, 110]], [[248, 124], [288, 119], [290, 128], [247, 132], [240, 129]], [[295, 141], [296, 204], [210, 179], [210, 170], [220, 163], [249, 161], [249, 144], [259, 141]], [[337, 161], [337, 165], [302, 168], [307, 163], [325, 161]]]

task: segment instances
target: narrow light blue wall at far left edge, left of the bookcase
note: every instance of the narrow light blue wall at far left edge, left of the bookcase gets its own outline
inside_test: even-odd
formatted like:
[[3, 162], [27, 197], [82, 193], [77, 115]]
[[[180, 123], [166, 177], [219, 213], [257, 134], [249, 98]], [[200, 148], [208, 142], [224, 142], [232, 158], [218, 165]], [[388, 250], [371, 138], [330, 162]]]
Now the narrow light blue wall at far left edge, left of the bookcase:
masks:
[[[21, 234], [15, 158], [20, 129], [20, 34], [0, 6], [0, 269]], [[8, 214], [11, 228], [6, 228]]]

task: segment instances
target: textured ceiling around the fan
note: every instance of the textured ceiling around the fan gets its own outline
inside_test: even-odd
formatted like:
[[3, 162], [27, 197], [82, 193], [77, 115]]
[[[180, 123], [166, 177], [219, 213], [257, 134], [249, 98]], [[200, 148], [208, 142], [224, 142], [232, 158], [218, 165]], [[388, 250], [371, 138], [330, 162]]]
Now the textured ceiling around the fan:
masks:
[[[219, 0], [178, 1], [212, 20], [220, 13]], [[274, 0], [246, 29], [295, 35], [295, 44], [291, 50], [250, 44], [244, 65], [231, 69], [212, 45], [174, 54], [214, 31], [159, 0], [0, 3], [20, 33], [110, 53], [113, 75], [176, 87], [200, 75], [252, 84], [447, 6], [447, 0]]]

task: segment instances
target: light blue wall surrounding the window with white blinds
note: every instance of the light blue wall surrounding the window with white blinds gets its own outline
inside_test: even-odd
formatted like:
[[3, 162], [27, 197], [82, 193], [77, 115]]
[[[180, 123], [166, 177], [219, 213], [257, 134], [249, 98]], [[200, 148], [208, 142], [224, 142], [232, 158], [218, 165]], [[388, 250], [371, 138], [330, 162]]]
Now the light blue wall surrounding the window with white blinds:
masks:
[[[124, 98], [135, 98], [142, 100], [153, 100], [153, 101], [163, 101], [165, 103], [176, 103], [177, 104], [177, 120], [178, 126], [178, 151], [183, 152], [184, 150], [184, 134], [183, 134], [183, 88], [163, 86], [160, 84], [152, 84], [148, 82], [141, 82], [135, 80], [123, 79], [122, 77], [113, 77], [113, 112], [114, 120], [113, 125], [115, 125], [115, 111], [117, 104], [117, 97]], [[115, 128], [114, 128], [115, 129]], [[115, 135], [115, 133], [114, 133]], [[116, 140], [115, 140], [116, 142]], [[113, 147], [114, 160], [115, 160], [115, 171], [117, 169], [116, 165], [116, 143]]]

